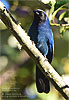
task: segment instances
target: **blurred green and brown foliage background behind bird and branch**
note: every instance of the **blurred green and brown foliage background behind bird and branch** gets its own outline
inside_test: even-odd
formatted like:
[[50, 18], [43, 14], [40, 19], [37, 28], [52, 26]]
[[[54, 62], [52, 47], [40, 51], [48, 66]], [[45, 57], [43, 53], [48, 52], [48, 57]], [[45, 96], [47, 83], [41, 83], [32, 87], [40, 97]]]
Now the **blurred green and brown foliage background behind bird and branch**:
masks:
[[[33, 10], [44, 10], [54, 35], [52, 66], [69, 84], [68, 0], [0, 0], [28, 33]], [[51, 84], [50, 93], [38, 93], [35, 63], [20, 49], [12, 32], [0, 20], [0, 100], [65, 100]]]

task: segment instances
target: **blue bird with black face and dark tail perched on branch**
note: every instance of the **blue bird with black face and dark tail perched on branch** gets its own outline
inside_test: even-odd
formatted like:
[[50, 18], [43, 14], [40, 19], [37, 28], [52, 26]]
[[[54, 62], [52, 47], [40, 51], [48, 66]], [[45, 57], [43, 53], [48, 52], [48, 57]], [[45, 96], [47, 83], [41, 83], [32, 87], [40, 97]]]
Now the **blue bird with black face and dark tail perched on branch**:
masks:
[[[38, 50], [51, 63], [54, 56], [54, 40], [49, 18], [41, 9], [33, 10], [34, 18], [28, 36], [34, 41]], [[39, 93], [49, 93], [50, 82], [36, 65], [36, 87]]]

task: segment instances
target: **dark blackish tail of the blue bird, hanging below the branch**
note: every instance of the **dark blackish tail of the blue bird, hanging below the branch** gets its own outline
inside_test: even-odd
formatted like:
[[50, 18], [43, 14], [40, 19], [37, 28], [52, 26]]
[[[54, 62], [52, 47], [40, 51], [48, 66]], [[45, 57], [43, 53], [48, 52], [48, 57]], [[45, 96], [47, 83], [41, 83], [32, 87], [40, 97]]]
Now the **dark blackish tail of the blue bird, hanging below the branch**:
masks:
[[50, 91], [49, 80], [44, 76], [41, 70], [36, 66], [36, 86], [39, 93]]

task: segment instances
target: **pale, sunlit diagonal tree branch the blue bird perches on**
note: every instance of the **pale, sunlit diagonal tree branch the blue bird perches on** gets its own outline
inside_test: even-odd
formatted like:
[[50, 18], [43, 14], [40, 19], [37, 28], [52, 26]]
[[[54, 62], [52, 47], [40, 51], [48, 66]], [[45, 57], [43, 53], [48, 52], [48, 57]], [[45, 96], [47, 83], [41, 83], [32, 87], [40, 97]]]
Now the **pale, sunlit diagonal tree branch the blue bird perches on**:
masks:
[[30, 37], [25, 33], [21, 26], [16, 22], [12, 15], [7, 11], [3, 3], [0, 2], [0, 18], [3, 23], [13, 31], [12, 34], [16, 37], [26, 52], [32, 57], [35, 63], [38, 65], [43, 74], [52, 82], [55, 88], [65, 98], [69, 98], [69, 88], [63, 81], [61, 76], [53, 69], [47, 59], [40, 53], [35, 47], [35, 44], [30, 40]]

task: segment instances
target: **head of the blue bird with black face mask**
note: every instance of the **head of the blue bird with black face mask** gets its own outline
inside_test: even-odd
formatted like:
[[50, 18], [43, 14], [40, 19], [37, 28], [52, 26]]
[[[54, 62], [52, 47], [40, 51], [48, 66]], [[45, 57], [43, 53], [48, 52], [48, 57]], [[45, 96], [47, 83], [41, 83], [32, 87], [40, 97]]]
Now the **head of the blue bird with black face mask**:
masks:
[[37, 10], [34, 10], [34, 20], [37, 20], [38, 22], [45, 22], [46, 21], [46, 13], [41, 10], [41, 9], [37, 9]]

